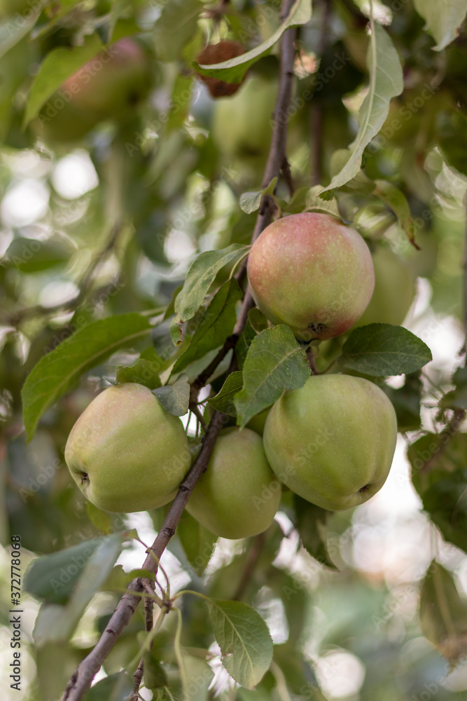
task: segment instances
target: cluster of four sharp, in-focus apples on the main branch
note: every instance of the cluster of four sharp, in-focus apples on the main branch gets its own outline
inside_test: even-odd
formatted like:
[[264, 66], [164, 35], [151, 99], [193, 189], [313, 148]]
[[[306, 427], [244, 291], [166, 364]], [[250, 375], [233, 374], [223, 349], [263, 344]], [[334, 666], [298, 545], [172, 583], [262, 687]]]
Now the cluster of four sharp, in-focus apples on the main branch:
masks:
[[[330, 215], [298, 214], [270, 224], [249, 254], [256, 304], [308, 343], [352, 327], [374, 288], [368, 247]], [[252, 424], [253, 427], [253, 424]], [[367, 501], [389, 473], [396, 414], [374, 383], [315, 374], [285, 391], [264, 433], [221, 430], [187, 510], [218, 536], [244, 538], [272, 522], [285, 485], [307, 501], [343, 510]], [[97, 507], [149, 510], [174, 498], [191, 464], [180, 419], [137, 383], [99, 394], [71, 430], [65, 458]]]

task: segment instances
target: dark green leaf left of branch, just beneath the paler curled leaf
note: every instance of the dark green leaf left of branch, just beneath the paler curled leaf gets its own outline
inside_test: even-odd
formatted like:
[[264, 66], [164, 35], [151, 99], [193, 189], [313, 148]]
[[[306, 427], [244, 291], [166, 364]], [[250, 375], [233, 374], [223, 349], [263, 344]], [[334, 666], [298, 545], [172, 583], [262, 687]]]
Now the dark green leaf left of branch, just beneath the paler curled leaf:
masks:
[[237, 281], [228, 280], [214, 295], [202, 314], [190, 345], [176, 361], [172, 372], [180, 372], [193, 360], [203, 358], [214, 348], [221, 346], [232, 334], [237, 320], [235, 305], [242, 299], [243, 292]]

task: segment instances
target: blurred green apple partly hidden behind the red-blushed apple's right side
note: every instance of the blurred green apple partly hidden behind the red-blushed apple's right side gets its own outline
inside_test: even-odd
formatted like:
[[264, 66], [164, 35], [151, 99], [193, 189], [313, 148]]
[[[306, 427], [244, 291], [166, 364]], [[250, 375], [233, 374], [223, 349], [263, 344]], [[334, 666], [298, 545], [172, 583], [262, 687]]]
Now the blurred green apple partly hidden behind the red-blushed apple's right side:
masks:
[[372, 253], [372, 260], [375, 291], [355, 326], [377, 323], [399, 326], [414, 301], [414, 275], [403, 259], [387, 246], [379, 245]]

